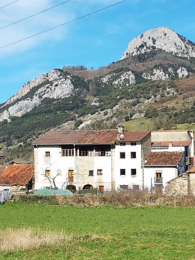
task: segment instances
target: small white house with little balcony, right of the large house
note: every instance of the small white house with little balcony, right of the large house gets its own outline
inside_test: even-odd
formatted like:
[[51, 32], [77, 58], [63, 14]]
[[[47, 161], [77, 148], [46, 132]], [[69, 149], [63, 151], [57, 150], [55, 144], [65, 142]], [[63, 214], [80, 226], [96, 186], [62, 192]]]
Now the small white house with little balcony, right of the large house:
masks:
[[166, 190], [166, 183], [185, 172], [184, 152], [151, 152], [144, 162], [144, 188], [155, 194]]

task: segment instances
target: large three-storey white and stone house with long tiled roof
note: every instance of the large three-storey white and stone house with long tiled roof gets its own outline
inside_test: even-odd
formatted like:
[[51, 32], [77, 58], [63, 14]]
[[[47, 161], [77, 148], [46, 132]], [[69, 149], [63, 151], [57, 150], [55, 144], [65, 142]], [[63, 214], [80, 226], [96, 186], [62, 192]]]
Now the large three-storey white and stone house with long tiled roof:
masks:
[[34, 144], [35, 189], [141, 188], [150, 131], [49, 131]]

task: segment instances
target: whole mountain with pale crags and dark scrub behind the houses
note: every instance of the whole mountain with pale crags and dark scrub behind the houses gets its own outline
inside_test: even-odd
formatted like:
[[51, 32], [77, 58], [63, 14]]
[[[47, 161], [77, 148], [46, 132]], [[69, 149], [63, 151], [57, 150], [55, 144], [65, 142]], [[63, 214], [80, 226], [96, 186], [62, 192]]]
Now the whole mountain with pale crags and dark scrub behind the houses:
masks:
[[[151, 42], [149, 34], [156, 41]], [[144, 47], [136, 47], [144, 39], [148, 39]], [[137, 52], [130, 51], [120, 61], [98, 70], [84, 66], [51, 70], [1, 104], [0, 144], [6, 160], [28, 159], [33, 139], [50, 129], [114, 128], [138, 119], [135, 130], [139, 130], [143, 117], [151, 120], [148, 129], [192, 124], [194, 44], [167, 27], [150, 30], [132, 42], [130, 49]], [[177, 44], [185, 45], [182, 53]]]

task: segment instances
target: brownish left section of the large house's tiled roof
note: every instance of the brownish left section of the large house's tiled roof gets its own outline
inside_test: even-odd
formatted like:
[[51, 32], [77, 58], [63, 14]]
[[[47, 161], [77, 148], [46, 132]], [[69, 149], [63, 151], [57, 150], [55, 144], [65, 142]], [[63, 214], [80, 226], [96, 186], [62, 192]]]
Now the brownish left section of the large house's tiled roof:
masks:
[[[67, 133], [67, 134], [63, 134]], [[88, 131], [49, 131], [44, 136], [39, 138], [36, 144], [75, 144]]]

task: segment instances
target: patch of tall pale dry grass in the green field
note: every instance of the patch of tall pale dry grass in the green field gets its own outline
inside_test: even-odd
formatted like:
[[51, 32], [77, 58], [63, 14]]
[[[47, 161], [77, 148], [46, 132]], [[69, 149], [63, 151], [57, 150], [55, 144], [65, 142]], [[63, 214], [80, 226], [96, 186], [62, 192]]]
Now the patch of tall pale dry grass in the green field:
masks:
[[0, 231], [0, 252], [14, 252], [19, 250], [29, 250], [40, 246], [54, 246], [59, 244], [68, 244], [70, 242], [99, 240], [103, 237], [93, 235], [67, 235], [64, 231], [57, 232], [40, 229], [21, 228], [5, 229]]

